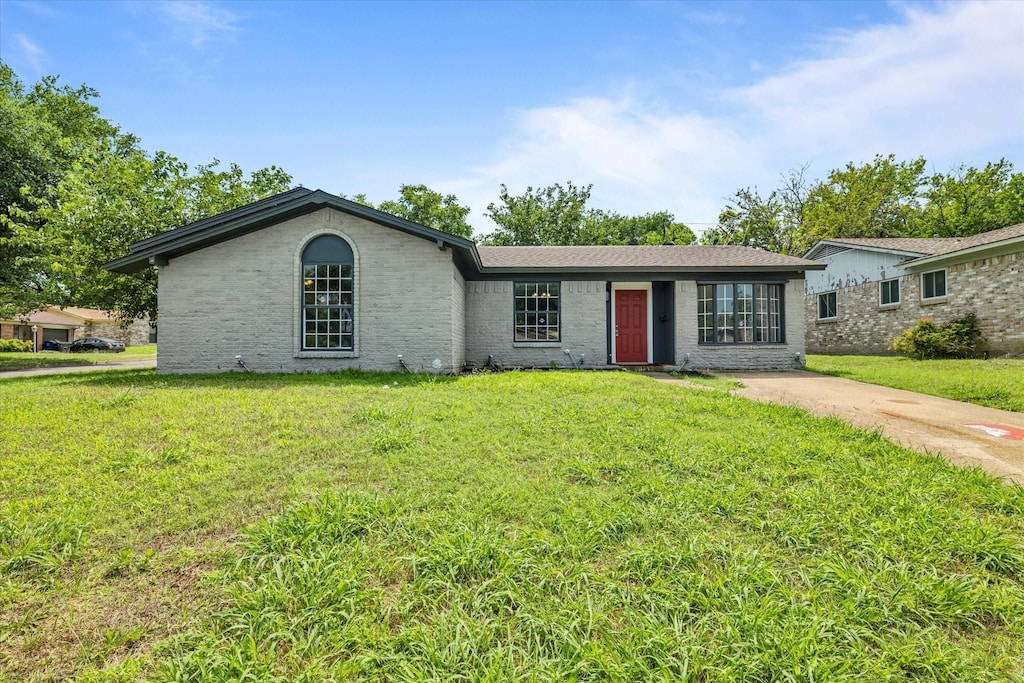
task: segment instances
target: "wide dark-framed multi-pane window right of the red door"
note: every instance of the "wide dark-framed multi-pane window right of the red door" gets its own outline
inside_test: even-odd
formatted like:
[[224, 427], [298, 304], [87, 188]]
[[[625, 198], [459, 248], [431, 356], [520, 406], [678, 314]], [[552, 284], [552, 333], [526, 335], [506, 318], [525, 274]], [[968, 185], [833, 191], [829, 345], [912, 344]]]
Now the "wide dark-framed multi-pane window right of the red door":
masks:
[[697, 341], [701, 344], [782, 342], [782, 286], [697, 286]]

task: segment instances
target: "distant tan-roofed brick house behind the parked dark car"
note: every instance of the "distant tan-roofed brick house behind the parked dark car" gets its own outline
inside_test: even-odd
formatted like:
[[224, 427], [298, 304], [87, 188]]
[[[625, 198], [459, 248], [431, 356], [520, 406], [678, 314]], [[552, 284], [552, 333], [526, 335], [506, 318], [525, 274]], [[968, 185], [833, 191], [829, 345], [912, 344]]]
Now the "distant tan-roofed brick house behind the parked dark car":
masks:
[[110, 313], [95, 308], [48, 306], [12, 321], [0, 321], [0, 339], [32, 339], [36, 328], [36, 345], [43, 342], [72, 342], [82, 337], [109, 337], [123, 341], [128, 346], [146, 344], [154, 339], [156, 328], [147, 321], [134, 321], [122, 328]]

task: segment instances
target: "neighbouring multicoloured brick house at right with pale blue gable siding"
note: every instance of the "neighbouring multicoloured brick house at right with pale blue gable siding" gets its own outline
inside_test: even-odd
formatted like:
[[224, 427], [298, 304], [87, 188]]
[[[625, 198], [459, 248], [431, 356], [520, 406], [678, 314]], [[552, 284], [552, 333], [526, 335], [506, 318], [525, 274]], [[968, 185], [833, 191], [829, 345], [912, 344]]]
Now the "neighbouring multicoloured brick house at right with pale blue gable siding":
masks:
[[993, 353], [1024, 353], [1024, 223], [967, 238], [822, 240], [805, 258], [808, 353], [887, 353], [922, 317], [969, 312]]

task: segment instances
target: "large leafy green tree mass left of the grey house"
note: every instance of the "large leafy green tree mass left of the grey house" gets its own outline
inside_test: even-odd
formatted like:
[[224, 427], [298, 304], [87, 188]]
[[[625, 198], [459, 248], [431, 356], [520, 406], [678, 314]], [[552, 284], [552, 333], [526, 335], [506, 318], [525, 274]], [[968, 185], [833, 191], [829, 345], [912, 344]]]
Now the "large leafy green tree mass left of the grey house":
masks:
[[128, 246], [287, 189], [276, 167], [189, 168], [146, 153], [92, 103], [46, 77], [26, 88], [0, 62], [0, 316], [47, 305], [157, 315], [156, 273], [104, 270]]

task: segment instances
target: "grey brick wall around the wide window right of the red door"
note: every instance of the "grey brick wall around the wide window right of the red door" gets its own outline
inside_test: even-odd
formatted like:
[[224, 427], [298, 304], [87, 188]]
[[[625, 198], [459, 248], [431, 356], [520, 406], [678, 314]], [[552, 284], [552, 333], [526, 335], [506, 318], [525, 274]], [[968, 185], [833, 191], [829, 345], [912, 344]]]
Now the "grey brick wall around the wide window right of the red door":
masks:
[[[738, 281], [742, 282], [742, 281]], [[697, 284], [676, 283], [676, 362], [686, 370], [793, 370], [804, 357], [804, 280], [782, 288], [781, 344], [697, 343]]]

